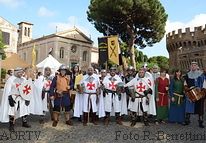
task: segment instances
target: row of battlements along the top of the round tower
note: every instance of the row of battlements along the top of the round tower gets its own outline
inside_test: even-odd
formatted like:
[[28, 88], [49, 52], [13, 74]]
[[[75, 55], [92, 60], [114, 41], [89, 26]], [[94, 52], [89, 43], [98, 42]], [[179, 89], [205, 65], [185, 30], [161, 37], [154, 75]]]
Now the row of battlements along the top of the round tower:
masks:
[[[196, 34], [198, 33], [198, 34]], [[178, 29], [178, 30], [173, 30], [172, 32], [169, 32], [166, 34], [167, 39], [174, 39], [174, 37], [180, 37], [182, 38], [183, 36], [191, 36], [193, 37], [194, 35], [200, 35], [200, 34], [206, 34], [206, 24], [204, 26], [198, 26], [198, 27], [187, 27], [185, 29]], [[176, 38], [175, 38], [176, 39]]]

